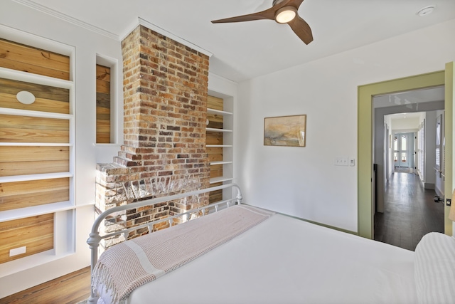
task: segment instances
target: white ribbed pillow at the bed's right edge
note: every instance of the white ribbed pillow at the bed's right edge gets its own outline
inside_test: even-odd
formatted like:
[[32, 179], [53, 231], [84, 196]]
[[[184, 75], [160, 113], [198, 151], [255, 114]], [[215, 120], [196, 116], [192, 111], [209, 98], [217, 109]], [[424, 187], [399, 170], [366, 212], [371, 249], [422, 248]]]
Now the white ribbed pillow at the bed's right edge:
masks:
[[455, 238], [432, 232], [415, 248], [414, 277], [421, 304], [455, 303]]

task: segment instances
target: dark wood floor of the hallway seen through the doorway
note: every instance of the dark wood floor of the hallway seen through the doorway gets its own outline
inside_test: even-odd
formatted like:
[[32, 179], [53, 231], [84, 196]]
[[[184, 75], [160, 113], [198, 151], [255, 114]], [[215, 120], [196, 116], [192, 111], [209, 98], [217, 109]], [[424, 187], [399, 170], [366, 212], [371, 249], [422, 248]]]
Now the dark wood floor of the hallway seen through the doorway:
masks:
[[375, 240], [414, 251], [422, 236], [444, 233], [444, 205], [436, 192], [424, 189], [417, 174], [392, 174], [384, 197], [384, 213], [375, 214]]

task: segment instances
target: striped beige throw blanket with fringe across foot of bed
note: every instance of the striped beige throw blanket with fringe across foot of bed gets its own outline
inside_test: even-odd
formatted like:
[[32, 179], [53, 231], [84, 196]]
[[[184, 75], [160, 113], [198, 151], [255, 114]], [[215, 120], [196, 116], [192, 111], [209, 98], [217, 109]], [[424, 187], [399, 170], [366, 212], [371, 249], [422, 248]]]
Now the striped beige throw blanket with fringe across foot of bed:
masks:
[[103, 285], [112, 295], [112, 303], [119, 303], [135, 288], [193, 261], [272, 215], [252, 206], [232, 206], [119, 243], [100, 256], [92, 273], [92, 288]]

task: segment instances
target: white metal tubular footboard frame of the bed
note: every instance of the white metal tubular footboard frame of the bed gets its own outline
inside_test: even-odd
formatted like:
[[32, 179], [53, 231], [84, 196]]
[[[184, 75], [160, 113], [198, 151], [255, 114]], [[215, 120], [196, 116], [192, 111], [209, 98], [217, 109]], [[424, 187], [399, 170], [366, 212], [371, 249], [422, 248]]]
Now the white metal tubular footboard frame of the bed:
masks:
[[[213, 191], [216, 191], [216, 190], [228, 189], [228, 188], [232, 188], [232, 189], [236, 189], [237, 190], [237, 196], [235, 196], [235, 198], [226, 199], [226, 200], [223, 200], [223, 201], [217, 201], [217, 202], [215, 202], [213, 204], [208, 204], [206, 206], [202, 206], [202, 207], [199, 207], [199, 208], [196, 208], [196, 209], [191, 209], [191, 210], [183, 212], [181, 214], [168, 216], [165, 219], [158, 219], [158, 220], [154, 220], [154, 221], [149, 221], [149, 222], [146, 222], [146, 223], [138, 225], [138, 226], [134, 226], [134, 227], [127, 228], [127, 229], [122, 229], [122, 230], [119, 230], [119, 231], [114, 231], [114, 232], [111, 232], [109, 234], [100, 235], [100, 231], [99, 231], [100, 224], [102, 223], [102, 221], [104, 219], [106, 219], [107, 216], [109, 216], [110, 214], [113, 214], [115, 212], [126, 211], [126, 210], [129, 210], [129, 209], [137, 209], [137, 208], [139, 208], [141, 206], [150, 206], [150, 205], [154, 205], [154, 204], [163, 203], [163, 202], [166, 202], [166, 201], [172, 201], [174, 199], [183, 199], [184, 197], [187, 197], [187, 196], [193, 196], [193, 195], [198, 195], [198, 194], [203, 194], [203, 193], [208, 193], [208, 192], [213, 192]], [[234, 204], [232, 204], [232, 203], [234, 203]], [[124, 234], [125, 239], [127, 239], [127, 236], [128, 236], [130, 231], [134, 231], [134, 230], [145, 228], [145, 227], [147, 227], [149, 229], [149, 233], [151, 233], [153, 231], [154, 225], [156, 225], [156, 224], [168, 221], [169, 226], [173, 226], [173, 219], [183, 218], [184, 216], [189, 216], [190, 217], [189, 220], [191, 220], [191, 214], [198, 213], [198, 214], [202, 214], [202, 216], [205, 216], [207, 211], [208, 211], [207, 214], [210, 214], [210, 213], [213, 213], [213, 212], [210, 212], [210, 210], [216, 212], [216, 211], [218, 211], [218, 209], [220, 209], [220, 207], [223, 207], [223, 206], [225, 206], [225, 208], [229, 208], [231, 206], [231, 204], [232, 204], [232, 206], [234, 206], [235, 204], [242, 204], [242, 193], [240, 192], [240, 187], [238, 187], [237, 184], [224, 184], [224, 185], [217, 186], [217, 187], [200, 189], [200, 190], [191, 191], [191, 192], [185, 192], [185, 193], [181, 193], [181, 194], [174, 194], [174, 195], [171, 195], [171, 196], [158, 197], [156, 199], [146, 199], [144, 201], [136, 201], [136, 202], [134, 202], [132, 204], [116, 206], [116, 207], [113, 207], [111, 209], [108, 209], [108, 210], [102, 212], [102, 214], [100, 214], [97, 217], [97, 219], [95, 219], [95, 222], [94, 222], [94, 224], [92, 226], [92, 231], [90, 232], [90, 236], [87, 239], [87, 243], [90, 246], [90, 251], [91, 251], [91, 264], [90, 264], [91, 273], [93, 272], [93, 268], [95, 267], [95, 264], [97, 263], [97, 260], [98, 260], [98, 247], [100, 246], [100, 242], [103, 239], [107, 239], [107, 238], [110, 238], [112, 236], [118, 236], [120, 234]], [[223, 208], [223, 209], [225, 209], [225, 208]], [[90, 293], [90, 298], [88, 299], [88, 303], [91, 303], [91, 304], [92, 303], [97, 303], [97, 299], [98, 299], [97, 291], [94, 290], [94, 288], [92, 288], [91, 293]]]

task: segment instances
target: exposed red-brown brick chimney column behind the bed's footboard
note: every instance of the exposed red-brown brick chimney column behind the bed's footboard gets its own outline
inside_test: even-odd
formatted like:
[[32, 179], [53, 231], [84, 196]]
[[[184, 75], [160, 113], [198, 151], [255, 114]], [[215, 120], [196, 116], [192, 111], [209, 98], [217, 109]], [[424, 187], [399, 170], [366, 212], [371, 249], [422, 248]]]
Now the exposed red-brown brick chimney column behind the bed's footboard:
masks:
[[[122, 41], [122, 55], [124, 145], [113, 163], [97, 165], [97, 208], [209, 187], [208, 56], [144, 26]], [[187, 200], [119, 214], [107, 230], [188, 207]]]

